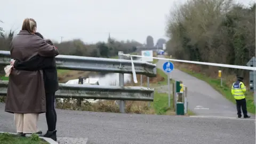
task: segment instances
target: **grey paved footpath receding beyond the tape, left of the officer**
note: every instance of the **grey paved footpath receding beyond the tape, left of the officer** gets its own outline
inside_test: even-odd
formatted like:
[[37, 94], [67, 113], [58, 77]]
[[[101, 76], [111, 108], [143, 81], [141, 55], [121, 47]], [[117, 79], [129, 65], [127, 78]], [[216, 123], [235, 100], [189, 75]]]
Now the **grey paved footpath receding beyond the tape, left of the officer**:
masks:
[[[163, 55], [158, 55], [164, 58]], [[163, 69], [165, 60], [158, 60], [157, 67]], [[171, 77], [182, 81], [188, 87], [188, 108], [199, 116], [237, 117], [234, 103], [223, 97], [209, 84], [178, 69], [171, 72]], [[165, 90], [166, 87], [163, 87]], [[168, 88], [168, 87], [167, 87]], [[251, 115], [255, 118], [255, 115]]]

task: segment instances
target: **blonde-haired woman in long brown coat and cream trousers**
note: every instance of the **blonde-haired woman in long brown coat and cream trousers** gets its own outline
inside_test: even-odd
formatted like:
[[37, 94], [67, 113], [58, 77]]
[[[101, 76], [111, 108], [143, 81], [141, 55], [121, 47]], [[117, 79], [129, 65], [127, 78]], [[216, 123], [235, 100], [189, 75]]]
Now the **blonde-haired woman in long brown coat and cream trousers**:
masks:
[[[37, 23], [27, 18], [11, 43], [11, 58], [27, 61], [36, 55], [54, 57], [58, 50], [35, 35]], [[38, 133], [38, 114], [46, 112], [43, 71], [12, 69], [9, 76], [5, 111], [14, 113], [17, 133]], [[39, 132], [42, 133], [42, 132]]]

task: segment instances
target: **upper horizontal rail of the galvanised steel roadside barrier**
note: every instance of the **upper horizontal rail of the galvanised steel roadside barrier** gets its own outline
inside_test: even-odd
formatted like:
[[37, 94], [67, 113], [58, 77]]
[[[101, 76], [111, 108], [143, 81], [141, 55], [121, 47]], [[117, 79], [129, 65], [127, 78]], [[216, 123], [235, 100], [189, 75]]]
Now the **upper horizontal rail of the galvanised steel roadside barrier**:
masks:
[[[131, 60], [58, 55], [57, 69], [96, 71], [105, 73], [132, 74]], [[0, 51], [0, 65], [10, 65], [10, 51]], [[156, 77], [156, 65], [133, 60], [136, 74]]]

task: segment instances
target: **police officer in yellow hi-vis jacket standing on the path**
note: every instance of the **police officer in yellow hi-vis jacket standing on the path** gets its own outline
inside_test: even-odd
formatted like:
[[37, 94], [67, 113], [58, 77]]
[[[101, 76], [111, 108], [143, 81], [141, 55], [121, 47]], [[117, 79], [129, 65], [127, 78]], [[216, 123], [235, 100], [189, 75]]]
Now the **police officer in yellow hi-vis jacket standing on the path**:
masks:
[[243, 110], [244, 118], [250, 118], [250, 116], [247, 115], [246, 100], [244, 95], [244, 93], [246, 92], [246, 87], [244, 86], [243, 79], [243, 77], [237, 76], [237, 81], [232, 85], [231, 93], [236, 99], [238, 118], [242, 117], [241, 107]]

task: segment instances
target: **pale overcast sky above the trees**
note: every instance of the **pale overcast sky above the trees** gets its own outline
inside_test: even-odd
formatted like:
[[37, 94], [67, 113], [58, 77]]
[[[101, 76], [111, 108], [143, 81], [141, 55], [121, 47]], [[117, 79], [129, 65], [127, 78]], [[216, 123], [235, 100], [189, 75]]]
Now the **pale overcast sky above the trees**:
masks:
[[[165, 37], [166, 15], [177, 2], [186, 0], [5, 0], [0, 19], [5, 31], [21, 29], [23, 19], [37, 21], [37, 31], [47, 38], [84, 42], [118, 40], [146, 42], [148, 35]], [[248, 5], [255, 0], [236, 0]], [[167, 38], [166, 38], [167, 39]]]

